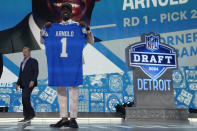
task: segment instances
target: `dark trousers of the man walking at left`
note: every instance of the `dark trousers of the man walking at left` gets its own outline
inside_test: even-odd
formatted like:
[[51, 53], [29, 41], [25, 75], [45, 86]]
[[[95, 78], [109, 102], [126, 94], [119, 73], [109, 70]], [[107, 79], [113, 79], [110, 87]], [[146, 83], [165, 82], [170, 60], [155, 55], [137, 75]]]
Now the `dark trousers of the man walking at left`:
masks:
[[22, 89], [22, 104], [23, 104], [23, 116], [24, 118], [28, 118], [30, 116], [35, 116], [34, 109], [31, 105], [30, 97], [33, 91], [33, 87], [24, 87]]

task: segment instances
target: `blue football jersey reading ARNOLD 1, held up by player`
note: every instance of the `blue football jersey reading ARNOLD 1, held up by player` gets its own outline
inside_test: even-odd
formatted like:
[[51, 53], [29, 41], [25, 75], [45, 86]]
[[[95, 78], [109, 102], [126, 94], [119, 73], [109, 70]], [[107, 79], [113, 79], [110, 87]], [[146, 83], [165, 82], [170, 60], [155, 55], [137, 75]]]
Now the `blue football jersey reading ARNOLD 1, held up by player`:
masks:
[[48, 85], [83, 84], [82, 52], [87, 38], [82, 32], [83, 28], [77, 23], [69, 25], [55, 23], [44, 30]]

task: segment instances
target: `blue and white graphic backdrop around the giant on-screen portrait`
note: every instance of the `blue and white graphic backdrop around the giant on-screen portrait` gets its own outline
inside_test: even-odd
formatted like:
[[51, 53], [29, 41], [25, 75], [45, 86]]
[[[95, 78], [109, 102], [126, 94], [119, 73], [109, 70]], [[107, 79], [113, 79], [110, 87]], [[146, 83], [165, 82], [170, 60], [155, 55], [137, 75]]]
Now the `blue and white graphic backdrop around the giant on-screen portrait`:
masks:
[[[76, 1], [80, 0], [73, 0]], [[1, 32], [9, 31], [31, 14], [31, 4], [31, 0], [1, 1]], [[176, 106], [197, 108], [196, 5], [196, 0], [96, 0], [89, 23], [97, 42], [86, 45], [83, 52], [79, 112], [114, 112], [117, 103], [133, 101], [133, 71], [126, 66], [125, 48], [149, 32], [160, 34], [161, 43], [177, 50], [179, 66], [172, 74]], [[0, 47], [4, 47], [2, 42]], [[9, 112], [20, 112], [21, 92], [15, 92], [14, 86], [23, 57], [20, 52], [7, 53], [3, 56], [0, 106], [9, 106]], [[44, 49], [32, 51], [32, 57], [38, 59], [40, 68], [39, 84], [32, 94], [33, 106], [37, 112], [58, 112], [56, 88], [47, 86]]]

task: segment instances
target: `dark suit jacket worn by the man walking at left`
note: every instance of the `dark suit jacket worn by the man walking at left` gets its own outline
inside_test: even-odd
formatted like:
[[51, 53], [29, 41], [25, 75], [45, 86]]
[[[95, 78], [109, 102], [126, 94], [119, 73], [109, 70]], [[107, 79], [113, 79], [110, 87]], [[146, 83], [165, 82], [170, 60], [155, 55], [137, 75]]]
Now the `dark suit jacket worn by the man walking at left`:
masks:
[[17, 85], [24, 88], [29, 86], [30, 81], [34, 81], [34, 86], [37, 86], [38, 72], [38, 61], [36, 59], [30, 57], [27, 60], [23, 71], [21, 62]]

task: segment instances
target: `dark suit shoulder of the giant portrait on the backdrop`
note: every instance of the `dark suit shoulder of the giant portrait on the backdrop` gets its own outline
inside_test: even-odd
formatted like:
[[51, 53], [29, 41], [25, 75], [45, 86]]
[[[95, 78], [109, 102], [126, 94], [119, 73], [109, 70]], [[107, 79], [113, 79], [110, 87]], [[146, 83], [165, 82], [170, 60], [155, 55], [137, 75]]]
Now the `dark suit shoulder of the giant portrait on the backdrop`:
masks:
[[40, 49], [29, 27], [29, 15], [15, 27], [0, 31], [0, 54], [22, 52], [25, 46]]

